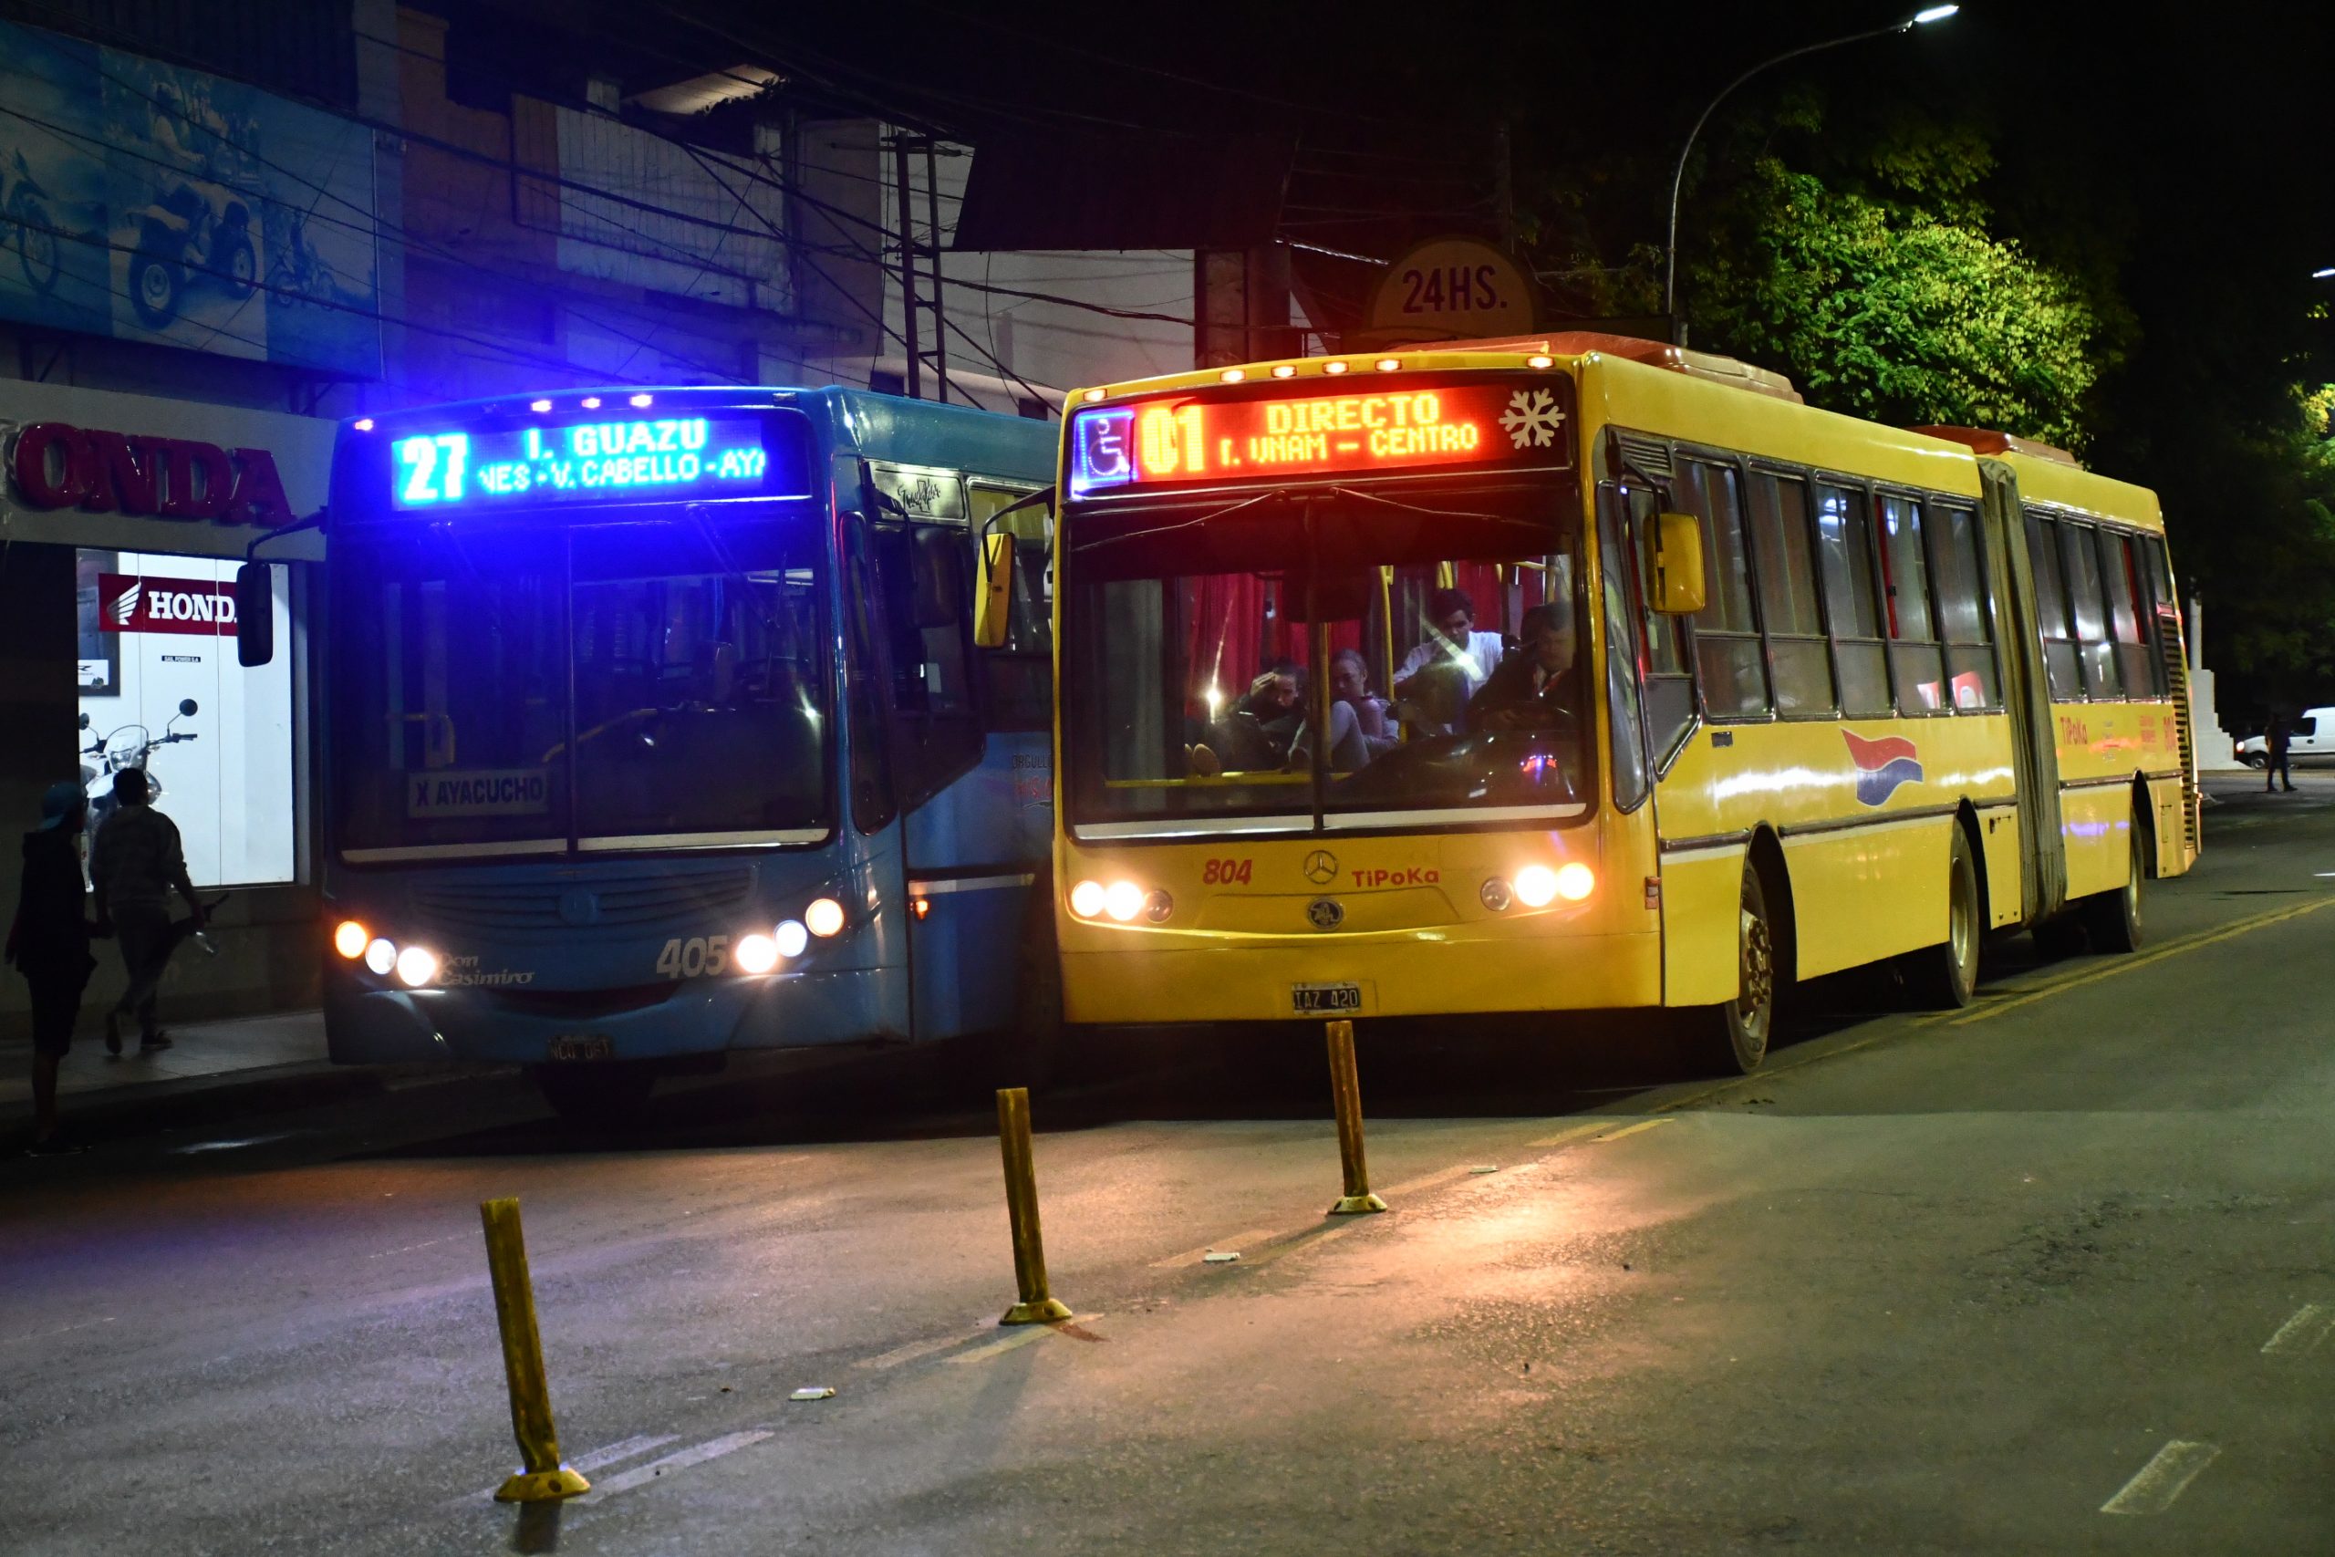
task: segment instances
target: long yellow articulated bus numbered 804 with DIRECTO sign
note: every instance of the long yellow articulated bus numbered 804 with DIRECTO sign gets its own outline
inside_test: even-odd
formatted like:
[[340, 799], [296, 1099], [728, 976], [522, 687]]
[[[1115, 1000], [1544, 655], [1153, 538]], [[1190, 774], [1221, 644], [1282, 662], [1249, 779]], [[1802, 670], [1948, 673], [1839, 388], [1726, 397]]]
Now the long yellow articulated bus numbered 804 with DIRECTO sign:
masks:
[[1053, 609], [1069, 1022], [1670, 1006], [1751, 1069], [1793, 978], [1966, 1004], [2197, 857], [2155, 497], [1702, 352], [1086, 390]]

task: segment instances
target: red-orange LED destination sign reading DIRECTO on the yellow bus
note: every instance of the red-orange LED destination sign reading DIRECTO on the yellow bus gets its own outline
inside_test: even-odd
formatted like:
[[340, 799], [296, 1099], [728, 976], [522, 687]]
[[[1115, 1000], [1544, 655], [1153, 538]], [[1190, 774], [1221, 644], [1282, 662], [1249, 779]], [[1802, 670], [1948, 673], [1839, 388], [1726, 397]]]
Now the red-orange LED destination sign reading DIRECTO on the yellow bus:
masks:
[[1427, 465], [1571, 465], [1569, 387], [1536, 378], [1097, 406], [1072, 420], [1069, 486], [1088, 495]]

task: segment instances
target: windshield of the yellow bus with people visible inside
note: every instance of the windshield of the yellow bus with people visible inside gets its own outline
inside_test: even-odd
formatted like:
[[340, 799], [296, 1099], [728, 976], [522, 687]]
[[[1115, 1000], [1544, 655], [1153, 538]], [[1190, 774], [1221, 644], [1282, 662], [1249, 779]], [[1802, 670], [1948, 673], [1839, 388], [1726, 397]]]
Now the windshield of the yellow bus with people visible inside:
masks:
[[1585, 815], [1576, 509], [1569, 483], [1511, 481], [1074, 511], [1072, 824], [1172, 836]]

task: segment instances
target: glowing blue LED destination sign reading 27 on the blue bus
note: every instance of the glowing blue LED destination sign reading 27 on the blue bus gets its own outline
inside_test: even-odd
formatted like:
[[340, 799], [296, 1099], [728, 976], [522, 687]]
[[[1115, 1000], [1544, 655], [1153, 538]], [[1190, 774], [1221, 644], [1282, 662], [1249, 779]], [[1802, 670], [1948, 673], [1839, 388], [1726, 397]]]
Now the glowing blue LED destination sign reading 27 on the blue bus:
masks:
[[486, 509], [675, 497], [799, 497], [757, 418], [668, 416], [567, 427], [416, 432], [390, 444], [390, 504]]

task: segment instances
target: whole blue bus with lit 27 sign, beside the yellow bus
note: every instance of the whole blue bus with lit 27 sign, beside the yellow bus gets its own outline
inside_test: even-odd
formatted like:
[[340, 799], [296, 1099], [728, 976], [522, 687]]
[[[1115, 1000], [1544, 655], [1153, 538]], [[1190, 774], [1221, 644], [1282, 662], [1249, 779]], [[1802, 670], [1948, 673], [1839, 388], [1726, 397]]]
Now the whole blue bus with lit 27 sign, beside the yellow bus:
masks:
[[346, 423], [332, 1057], [523, 1064], [621, 1118], [733, 1050], [1011, 1032], [1051, 964], [1053, 458], [1046, 423], [843, 387]]

